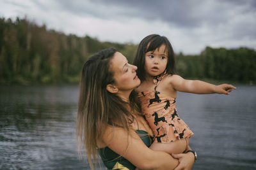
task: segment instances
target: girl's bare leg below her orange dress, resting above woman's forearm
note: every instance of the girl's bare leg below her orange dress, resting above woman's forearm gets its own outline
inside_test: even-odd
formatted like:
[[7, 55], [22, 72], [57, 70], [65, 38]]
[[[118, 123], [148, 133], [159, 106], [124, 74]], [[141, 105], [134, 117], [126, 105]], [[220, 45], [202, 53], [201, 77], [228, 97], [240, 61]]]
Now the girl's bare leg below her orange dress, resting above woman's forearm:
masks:
[[166, 153], [182, 153], [188, 147], [189, 138], [180, 139], [171, 143], [152, 143], [149, 147], [152, 150], [163, 151]]

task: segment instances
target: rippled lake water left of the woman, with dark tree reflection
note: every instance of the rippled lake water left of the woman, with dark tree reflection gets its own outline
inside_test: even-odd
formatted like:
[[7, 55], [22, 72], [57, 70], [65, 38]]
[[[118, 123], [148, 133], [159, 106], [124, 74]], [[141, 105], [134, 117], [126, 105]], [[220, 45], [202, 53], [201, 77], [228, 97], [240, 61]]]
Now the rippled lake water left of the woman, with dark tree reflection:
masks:
[[78, 87], [1, 87], [0, 169], [86, 169], [77, 159]]

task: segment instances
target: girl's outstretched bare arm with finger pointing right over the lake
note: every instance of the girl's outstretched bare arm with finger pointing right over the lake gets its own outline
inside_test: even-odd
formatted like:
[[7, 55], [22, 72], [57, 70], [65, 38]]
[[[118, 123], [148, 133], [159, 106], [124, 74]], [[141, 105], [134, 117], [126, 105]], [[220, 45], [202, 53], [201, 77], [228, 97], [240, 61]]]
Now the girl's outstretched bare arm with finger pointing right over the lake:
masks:
[[200, 80], [186, 80], [178, 75], [171, 76], [170, 83], [173, 89], [177, 91], [195, 94], [229, 94], [232, 89], [236, 89], [236, 87], [229, 84], [213, 85]]

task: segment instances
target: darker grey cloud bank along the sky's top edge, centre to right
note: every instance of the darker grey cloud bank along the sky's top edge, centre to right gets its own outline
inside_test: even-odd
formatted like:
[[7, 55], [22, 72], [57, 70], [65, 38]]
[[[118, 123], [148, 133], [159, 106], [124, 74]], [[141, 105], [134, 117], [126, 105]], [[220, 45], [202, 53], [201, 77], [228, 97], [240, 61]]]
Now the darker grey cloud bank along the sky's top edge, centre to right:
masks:
[[[147, 20], [162, 20], [178, 27], [198, 27], [203, 24], [218, 25], [228, 22], [230, 11], [239, 6], [243, 11], [237, 11], [237, 15], [247, 12], [255, 13], [256, 1], [147, 1], [147, 0], [95, 0], [98, 4], [108, 2], [108, 5], [119, 6], [124, 15], [141, 17]], [[129, 10], [133, 10], [130, 13]], [[134, 11], [136, 11], [134, 13]], [[111, 13], [111, 11], [109, 11]], [[114, 11], [115, 12], [115, 11]]]

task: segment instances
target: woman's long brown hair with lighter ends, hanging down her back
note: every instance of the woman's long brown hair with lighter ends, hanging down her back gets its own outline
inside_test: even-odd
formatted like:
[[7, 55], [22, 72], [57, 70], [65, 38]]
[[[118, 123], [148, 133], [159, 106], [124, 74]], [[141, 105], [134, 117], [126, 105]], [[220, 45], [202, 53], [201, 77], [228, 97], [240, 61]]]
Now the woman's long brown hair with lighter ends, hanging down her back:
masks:
[[[114, 48], [102, 50], [88, 59], [83, 66], [77, 111], [77, 145], [79, 153], [86, 150], [90, 167], [97, 167], [97, 139], [102, 138], [108, 125], [123, 127], [129, 132], [129, 124], [134, 116], [127, 109], [130, 105], [136, 111], [139, 107], [131, 95], [130, 103], [106, 90], [108, 84], [115, 83], [110, 69]], [[94, 161], [93, 161], [94, 160]], [[94, 166], [93, 166], [94, 163]]]

